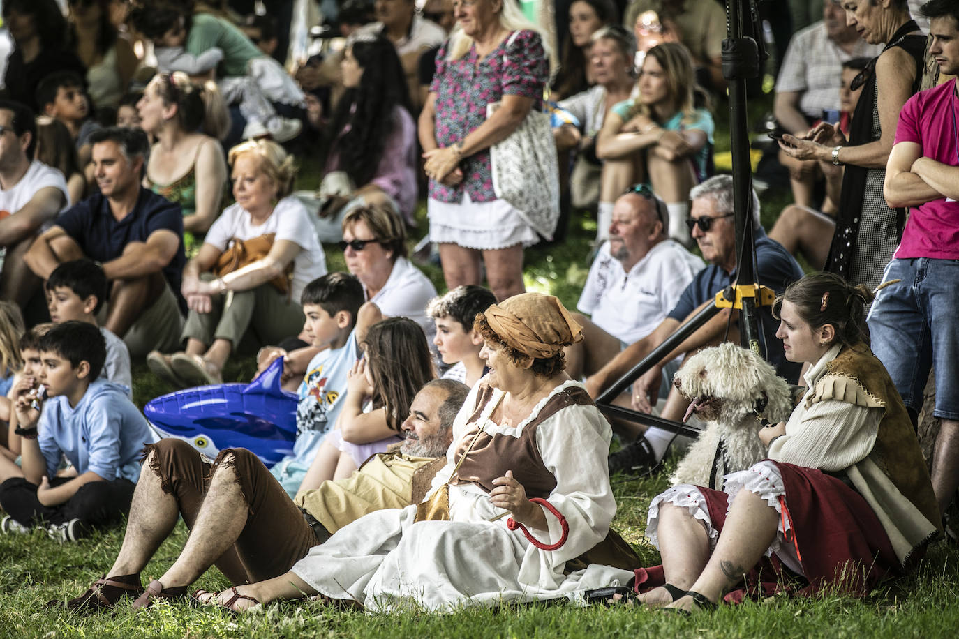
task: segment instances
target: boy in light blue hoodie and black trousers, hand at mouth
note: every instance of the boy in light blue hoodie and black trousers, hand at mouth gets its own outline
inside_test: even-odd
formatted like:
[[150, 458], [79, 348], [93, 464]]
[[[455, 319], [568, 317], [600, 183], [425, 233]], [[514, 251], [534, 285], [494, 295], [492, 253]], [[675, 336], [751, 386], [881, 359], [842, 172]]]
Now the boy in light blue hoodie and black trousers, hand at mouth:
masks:
[[[59, 324], [40, 338], [39, 351], [48, 399], [22, 389], [16, 397], [23, 476], [0, 484], [0, 508], [19, 526], [5, 518], [3, 529], [44, 525], [51, 537], [75, 541], [129, 510], [140, 452], [155, 437], [125, 389], [97, 379], [106, 357], [97, 327]], [[73, 476], [57, 476], [64, 456]]]

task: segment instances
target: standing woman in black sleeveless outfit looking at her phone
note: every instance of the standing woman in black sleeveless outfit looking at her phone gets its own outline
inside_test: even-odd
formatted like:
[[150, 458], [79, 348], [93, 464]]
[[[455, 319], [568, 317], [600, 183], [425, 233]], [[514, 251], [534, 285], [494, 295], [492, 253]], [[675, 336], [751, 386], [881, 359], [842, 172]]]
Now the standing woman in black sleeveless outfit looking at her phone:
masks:
[[905, 211], [889, 208], [882, 183], [900, 111], [923, 80], [925, 35], [909, 14], [906, 0], [840, 4], [860, 36], [870, 44], [885, 44], [853, 80], [852, 88], [862, 90], [849, 138], [838, 125], [820, 124], [802, 137], [784, 135], [780, 148], [799, 160], [845, 165], [826, 270], [872, 288], [882, 281], [905, 225]]

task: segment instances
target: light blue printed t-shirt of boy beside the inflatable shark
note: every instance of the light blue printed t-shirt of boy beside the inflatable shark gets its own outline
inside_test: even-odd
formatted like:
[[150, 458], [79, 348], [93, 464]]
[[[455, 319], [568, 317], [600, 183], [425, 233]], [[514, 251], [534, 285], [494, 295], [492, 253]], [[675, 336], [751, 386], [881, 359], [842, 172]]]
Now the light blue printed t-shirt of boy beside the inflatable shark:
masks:
[[299, 490], [316, 451], [333, 429], [346, 395], [346, 376], [360, 357], [356, 330], [339, 349], [320, 351], [310, 360], [296, 393], [296, 441], [293, 454], [284, 457], [269, 471], [291, 496]]

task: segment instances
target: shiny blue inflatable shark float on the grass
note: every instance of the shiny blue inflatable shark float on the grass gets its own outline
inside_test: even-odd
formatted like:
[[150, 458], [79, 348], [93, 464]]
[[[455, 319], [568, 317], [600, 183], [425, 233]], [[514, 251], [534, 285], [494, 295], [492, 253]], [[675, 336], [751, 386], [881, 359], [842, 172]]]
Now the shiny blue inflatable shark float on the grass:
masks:
[[292, 454], [294, 393], [283, 390], [280, 357], [249, 384], [188, 388], [151, 399], [143, 412], [161, 438], [175, 437], [213, 459], [224, 448], [246, 448], [270, 466]]

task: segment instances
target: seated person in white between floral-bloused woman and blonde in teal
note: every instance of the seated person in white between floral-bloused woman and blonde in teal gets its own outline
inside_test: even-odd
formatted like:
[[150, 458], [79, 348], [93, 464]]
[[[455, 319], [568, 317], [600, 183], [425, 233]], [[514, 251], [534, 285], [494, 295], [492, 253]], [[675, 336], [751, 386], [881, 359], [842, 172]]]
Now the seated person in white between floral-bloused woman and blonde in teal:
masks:
[[[573, 3], [574, 5], [577, 3]], [[595, 206], [598, 199], [602, 162], [596, 158], [596, 135], [614, 104], [629, 99], [636, 85], [633, 57], [636, 38], [620, 27], [601, 27], [590, 38], [586, 50], [590, 73], [596, 86], [559, 102], [579, 125], [564, 124], [553, 129], [559, 151], [577, 148], [576, 163], [570, 177], [574, 207]], [[560, 160], [560, 171], [563, 161]], [[596, 227], [596, 239], [609, 237], [609, 224]]]

